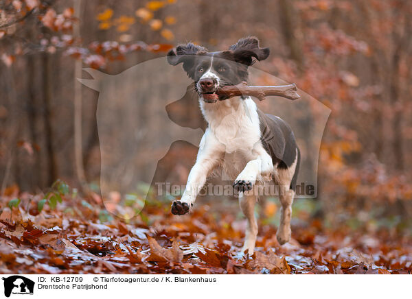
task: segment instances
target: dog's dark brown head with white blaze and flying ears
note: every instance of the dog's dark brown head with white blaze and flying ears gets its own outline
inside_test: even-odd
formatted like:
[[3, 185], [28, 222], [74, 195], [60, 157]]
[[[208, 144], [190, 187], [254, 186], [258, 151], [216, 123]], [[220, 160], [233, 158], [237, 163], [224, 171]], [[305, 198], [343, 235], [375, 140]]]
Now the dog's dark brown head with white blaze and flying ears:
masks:
[[269, 56], [269, 48], [260, 48], [255, 37], [241, 38], [228, 50], [209, 52], [205, 47], [188, 43], [168, 53], [172, 65], [183, 63], [183, 69], [195, 82], [199, 97], [207, 103], [219, 99], [218, 88], [247, 81], [248, 67]]

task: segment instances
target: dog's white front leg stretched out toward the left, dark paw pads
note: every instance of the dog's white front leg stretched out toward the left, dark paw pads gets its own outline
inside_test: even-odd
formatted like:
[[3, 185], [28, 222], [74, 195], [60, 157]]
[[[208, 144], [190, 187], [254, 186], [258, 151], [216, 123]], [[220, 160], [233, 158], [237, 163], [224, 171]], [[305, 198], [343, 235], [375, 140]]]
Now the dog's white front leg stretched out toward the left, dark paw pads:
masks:
[[184, 215], [189, 213], [196, 196], [206, 182], [207, 176], [218, 165], [224, 153], [225, 150], [222, 144], [218, 143], [214, 136], [206, 130], [199, 145], [196, 163], [190, 170], [189, 178], [187, 178], [186, 189], [182, 198], [172, 203], [172, 214]]

